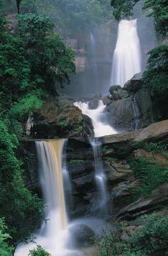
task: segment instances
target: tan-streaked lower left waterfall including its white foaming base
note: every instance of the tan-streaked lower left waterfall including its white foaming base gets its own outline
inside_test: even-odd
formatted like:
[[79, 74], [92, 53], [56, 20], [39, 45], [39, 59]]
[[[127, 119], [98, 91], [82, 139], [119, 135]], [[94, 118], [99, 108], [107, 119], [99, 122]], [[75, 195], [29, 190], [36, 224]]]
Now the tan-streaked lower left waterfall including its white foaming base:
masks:
[[[63, 188], [63, 145], [65, 140], [36, 141], [36, 149], [40, 165], [40, 182], [45, 204], [46, 221], [36, 237], [35, 243], [40, 244], [52, 256], [82, 256], [77, 250], [68, 250], [68, 221]], [[27, 256], [36, 244], [20, 245], [15, 256]]]

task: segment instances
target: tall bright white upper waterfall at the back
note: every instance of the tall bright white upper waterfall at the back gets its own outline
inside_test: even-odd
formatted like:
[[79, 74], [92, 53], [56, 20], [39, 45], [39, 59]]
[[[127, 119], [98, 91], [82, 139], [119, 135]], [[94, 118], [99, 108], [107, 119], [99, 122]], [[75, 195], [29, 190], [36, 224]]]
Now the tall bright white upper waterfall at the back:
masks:
[[111, 85], [122, 87], [135, 74], [141, 72], [141, 47], [137, 34], [137, 20], [121, 20], [114, 50]]

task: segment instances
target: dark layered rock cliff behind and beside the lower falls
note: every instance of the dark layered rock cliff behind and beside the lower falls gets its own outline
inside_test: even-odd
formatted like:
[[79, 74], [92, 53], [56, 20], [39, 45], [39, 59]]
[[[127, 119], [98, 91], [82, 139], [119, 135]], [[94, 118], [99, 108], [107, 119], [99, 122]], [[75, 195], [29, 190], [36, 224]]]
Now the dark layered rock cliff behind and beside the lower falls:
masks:
[[[167, 135], [168, 120], [165, 120], [138, 131], [100, 138], [102, 141], [100, 161], [107, 177], [108, 189], [109, 212], [106, 218], [134, 220], [144, 213], [164, 209], [168, 201], [167, 178], [165, 178], [167, 149], [163, 146], [167, 143]], [[28, 184], [40, 194], [34, 142], [24, 140], [24, 145], [26, 158], [29, 159]], [[151, 145], [151, 148], [147, 145]], [[72, 179], [73, 200], [67, 202], [71, 218], [99, 216], [101, 212], [98, 208], [99, 198], [95, 185], [95, 160], [88, 139], [70, 138], [66, 154], [66, 163]], [[139, 167], [139, 164], [142, 166]], [[141, 170], [146, 172], [146, 169], [143, 169], [146, 166], [148, 167], [145, 177], [148, 179], [147, 184], [141, 173]], [[163, 179], [160, 178], [160, 173]], [[155, 180], [153, 185], [150, 184], [150, 179], [153, 179], [154, 175], [157, 175], [157, 181]]]

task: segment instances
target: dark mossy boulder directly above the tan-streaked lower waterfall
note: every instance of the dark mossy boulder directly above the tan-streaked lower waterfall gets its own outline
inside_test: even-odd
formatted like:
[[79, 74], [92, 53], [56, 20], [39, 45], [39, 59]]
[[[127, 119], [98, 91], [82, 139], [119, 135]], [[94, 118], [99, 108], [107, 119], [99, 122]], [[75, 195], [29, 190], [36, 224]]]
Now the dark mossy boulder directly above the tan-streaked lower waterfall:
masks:
[[34, 113], [33, 138], [87, 137], [93, 134], [91, 119], [73, 105], [50, 108], [47, 113], [43, 110]]

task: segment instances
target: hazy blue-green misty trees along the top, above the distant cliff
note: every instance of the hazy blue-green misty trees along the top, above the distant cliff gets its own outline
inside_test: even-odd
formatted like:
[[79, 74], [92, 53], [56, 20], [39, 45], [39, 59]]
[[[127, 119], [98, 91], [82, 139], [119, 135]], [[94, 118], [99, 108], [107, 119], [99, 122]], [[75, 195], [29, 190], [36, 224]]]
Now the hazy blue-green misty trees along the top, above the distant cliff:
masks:
[[[11, 0], [6, 10], [16, 12], [15, 0]], [[67, 35], [91, 31], [112, 16], [109, 0], [24, 0], [20, 10], [22, 14], [36, 13], [49, 16], [57, 28], [64, 30]]]

